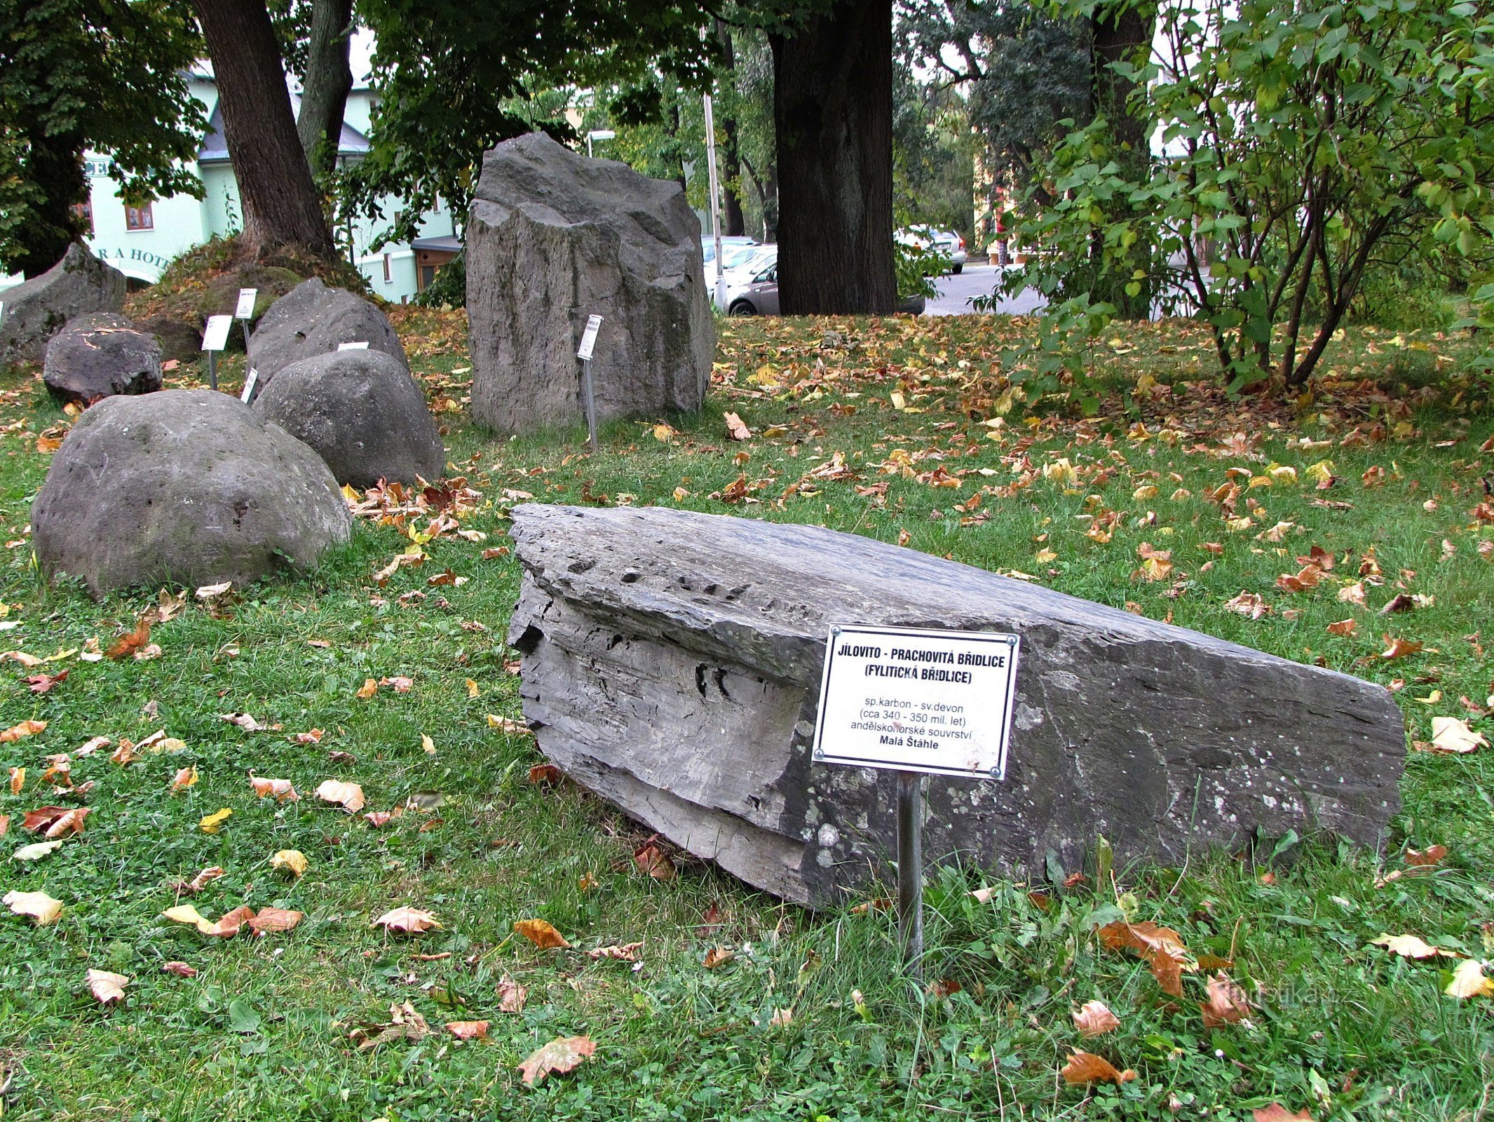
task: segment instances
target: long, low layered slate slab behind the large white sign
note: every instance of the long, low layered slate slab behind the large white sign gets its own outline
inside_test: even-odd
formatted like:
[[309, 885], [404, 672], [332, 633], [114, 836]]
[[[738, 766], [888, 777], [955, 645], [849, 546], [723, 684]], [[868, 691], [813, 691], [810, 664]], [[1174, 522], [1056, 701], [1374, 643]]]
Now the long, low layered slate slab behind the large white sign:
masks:
[[1404, 723], [1371, 683], [813, 526], [523, 505], [524, 716], [580, 783], [698, 856], [832, 905], [893, 850], [896, 780], [811, 765], [835, 623], [1022, 636], [1004, 783], [931, 777], [923, 849], [1182, 862], [1259, 828], [1379, 846]]

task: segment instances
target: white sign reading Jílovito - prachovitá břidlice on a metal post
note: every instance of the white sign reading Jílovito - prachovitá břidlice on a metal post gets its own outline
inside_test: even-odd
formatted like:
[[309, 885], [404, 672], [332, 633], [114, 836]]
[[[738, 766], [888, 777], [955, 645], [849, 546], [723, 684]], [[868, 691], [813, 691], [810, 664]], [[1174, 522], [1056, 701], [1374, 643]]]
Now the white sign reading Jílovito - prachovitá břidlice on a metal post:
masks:
[[814, 762], [1002, 780], [1016, 635], [831, 627]]

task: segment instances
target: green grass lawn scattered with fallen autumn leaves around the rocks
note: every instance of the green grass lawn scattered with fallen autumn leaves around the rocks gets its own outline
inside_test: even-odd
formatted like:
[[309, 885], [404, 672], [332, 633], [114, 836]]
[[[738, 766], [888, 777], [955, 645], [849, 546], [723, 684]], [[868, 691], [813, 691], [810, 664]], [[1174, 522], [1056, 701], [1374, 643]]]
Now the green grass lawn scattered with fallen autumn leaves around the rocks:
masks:
[[[0, 789], [0, 850], [42, 840], [27, 811], [90, 808], [54, 852], [0, 865], [0, 890], [63, 902], [48, 926], [0, 910], [6, 1119], [1484, 1115], [1494, 1001], [1443, 991], [1460, 961], [1494, 958], [1487, 746], [1409, 751], [1383, 855], [1265, 838], [1104, 883], [1094, 867], [1055, 883], [944, 862], [917, 986], [893, 917], [867, 901], [810, 914], [683, 855], [647, 875], [647, 835], [569, 783], [532, 781], [533, 741], [505, 723], [520, 717], [505, 517], [533, 498], [901, 542], [1385, 683], [1409, 748], [1434, 717], [1487, 732], [1494, 418], [1488, 382], [1463, 374], [1467, 342], [1351, 329], [1315, 396], [1288, 408], [1224, 397], [1192, 324], [1116, 329], [1091, 356], [1100, 414], [1071, 418], [1029, 417], [1008, 393], [999, 363], [1020, 321], [729, 321], [701, 415], [611, 424], [589, 456], [574, 433], [505, 442], [468, 423], [459, 314], [400, 309], [399, 327], [450, 426], [451, 475], [475, 495], [429, 541], [438, 511], [375, 499], [315, 574], [206, 605], [187, 590], [149, 633], [158, 654], [140, 651], [154, 657], [91, 656], [158, 590], [96, 604], [37, 578], [28, 502], [70, 418], [33, 372], [0, 382], [0, 647], [30, 656], [0, 663], [0, 728], [46, 723], [0, 744], [0, 765], [25, 769]], [[236, 390], [242, 357], [221, 375]], [[750, 439], [729, 439], [725, 411]], [[423, 563], [382, 575], [414, 545]], [[1309, 556], [1331, 569], [1279, 587]], [[33, 692], [37, 674], [57, 681]], [[96, 737], [112, 743], [81, 751]], [[124, 741], [137, 759], [121, 765]], [[43, 778], [57, 753], [90, 784], [81, 796]], [[302, 798], [257, 798], [251, 775]], [[368, 805], [317, 799], [324, 780], [360, 784]], [[272, 865], [281, 850], [305, 856], [302, 875]], [[223, 875], [193, 893], [209, 867]], [[241, 905], [305, 919], [218, 938], [163, 917], [187, 902], [211, 920]], [[439, 926], [371, 923], [400, 905]], [[1182, 997], [1103, 944], [1097, 926], [1119, 917], [1177, 932], [1201, 964]], [[572, 947], [541, 950], [515, 934], [524, 919]], [[1382, 934], [1446, 953], [1398, 956]], [[633, 943], [633, 961], [587, 953]], [[732, 953], [707, 968], [716, 949]], [[88, 970], [127, 976], [123, 1001], [100, 1005]], [[1080, 1037], [1088, 1001], [1119, 1026]], [[486, 1040], [444, 1028], [472, 1020]], [[521, 1082], [526, 1056], [572, 1035], [595, 1055]], [[1070, 1085], [1073, 1049], [1134, 1077]]]

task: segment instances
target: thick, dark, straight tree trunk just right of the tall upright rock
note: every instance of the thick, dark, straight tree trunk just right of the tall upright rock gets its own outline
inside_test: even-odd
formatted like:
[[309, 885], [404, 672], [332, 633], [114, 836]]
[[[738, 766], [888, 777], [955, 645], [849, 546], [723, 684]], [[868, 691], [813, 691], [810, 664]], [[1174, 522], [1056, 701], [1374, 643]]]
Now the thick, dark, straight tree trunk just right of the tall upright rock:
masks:
[[769, 42], [780, 306], [890, 314], [892, 0], [838, 0]]

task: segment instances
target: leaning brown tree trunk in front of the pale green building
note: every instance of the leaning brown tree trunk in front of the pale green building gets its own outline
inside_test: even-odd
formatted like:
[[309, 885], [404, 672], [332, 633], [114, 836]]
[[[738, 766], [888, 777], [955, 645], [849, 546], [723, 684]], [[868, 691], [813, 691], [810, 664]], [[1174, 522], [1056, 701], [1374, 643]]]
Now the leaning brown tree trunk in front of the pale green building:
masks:
[[311, 166], [296, 134], [279, 46], [264, 0], [194, 0], [218, 81], [223, 139], [255, 254], [296, 247], [336, 258]]

